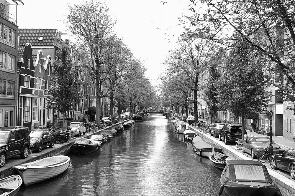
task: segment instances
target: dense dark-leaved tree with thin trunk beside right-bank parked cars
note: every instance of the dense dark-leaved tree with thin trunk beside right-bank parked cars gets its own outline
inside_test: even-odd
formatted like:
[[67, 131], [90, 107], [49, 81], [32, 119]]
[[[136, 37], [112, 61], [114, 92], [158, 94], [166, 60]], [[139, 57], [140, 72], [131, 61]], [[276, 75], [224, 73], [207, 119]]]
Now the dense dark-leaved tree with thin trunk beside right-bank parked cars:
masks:
[[264, 75], [263, 65], [253, 56], [253, 50], [241, 44], [225, 61], [223, 75], [217, 85], [218, 106], [242, 117], [242, 137], [245, 119], [266, 108], [269, 95], [266, 87], [270, 78]]

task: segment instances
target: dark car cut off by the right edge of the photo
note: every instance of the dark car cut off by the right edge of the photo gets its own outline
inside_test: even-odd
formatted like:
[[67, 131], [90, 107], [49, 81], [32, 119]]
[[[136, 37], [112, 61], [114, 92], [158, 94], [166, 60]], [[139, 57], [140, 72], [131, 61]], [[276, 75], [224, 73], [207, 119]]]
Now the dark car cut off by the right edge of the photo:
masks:
[[281, 169], [290, 172], [291, 178], [295, 180], [295, 149], [272, 155], [269, 164], [274, 170]]

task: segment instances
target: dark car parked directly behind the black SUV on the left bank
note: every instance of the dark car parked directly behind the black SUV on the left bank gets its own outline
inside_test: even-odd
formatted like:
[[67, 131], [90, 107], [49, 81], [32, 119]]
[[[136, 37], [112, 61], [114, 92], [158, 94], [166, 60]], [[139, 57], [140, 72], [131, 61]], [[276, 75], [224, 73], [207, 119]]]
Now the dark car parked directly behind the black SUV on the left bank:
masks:
[[53, 148], [54, 146], [54, 137], [48, 130], [30, 130], [30, 149], [38, 153], [41, 152], [42, 148], [49, 146]]

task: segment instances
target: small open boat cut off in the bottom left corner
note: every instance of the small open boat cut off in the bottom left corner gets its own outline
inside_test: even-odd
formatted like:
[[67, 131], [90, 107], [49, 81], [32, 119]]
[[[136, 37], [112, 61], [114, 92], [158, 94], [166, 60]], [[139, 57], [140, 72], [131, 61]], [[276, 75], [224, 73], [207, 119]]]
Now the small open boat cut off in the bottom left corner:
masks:
[[0, 179], [0, 195], [15, 196], [17, 195], [22, 178], [19, 175], [12, 175]]

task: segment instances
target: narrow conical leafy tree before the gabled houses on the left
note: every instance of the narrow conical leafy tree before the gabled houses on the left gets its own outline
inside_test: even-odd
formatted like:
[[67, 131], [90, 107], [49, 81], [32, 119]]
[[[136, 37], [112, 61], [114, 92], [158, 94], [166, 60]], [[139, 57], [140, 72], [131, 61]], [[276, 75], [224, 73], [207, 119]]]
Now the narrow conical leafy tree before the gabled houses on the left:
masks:
[[[53, 61], [54, 74], [52, 76], [52, 85], [48, 89], [47, 103], [55, 101], [56, 108], [61, 113], [65, 114], [73, 109], [76, 100], [80, 94], [78, 83], [75, 79], [75, 67], [71, 57], [71, 48], [68, 41], [65, 41]], [[51, 105], [47, 106], [51, 108]], [[63, 115], [63, 125], [65, 115]]]

